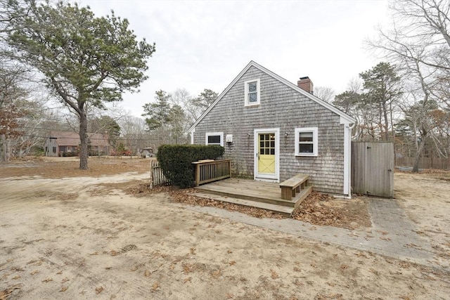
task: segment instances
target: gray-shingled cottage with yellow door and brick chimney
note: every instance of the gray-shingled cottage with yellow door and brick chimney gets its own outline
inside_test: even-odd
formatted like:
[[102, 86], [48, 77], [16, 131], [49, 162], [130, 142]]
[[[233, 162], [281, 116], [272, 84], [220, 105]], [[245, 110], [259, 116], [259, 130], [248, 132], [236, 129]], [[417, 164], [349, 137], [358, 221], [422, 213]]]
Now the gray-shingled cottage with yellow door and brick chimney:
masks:
[[[356, 120], [251, 61], [188, 130], [191, 143], [223, 145], [234, 176], [281, 182], [308, 174], [314, 190], [350, 195]], [[305, 91], [305, 89], [307, 91]]]

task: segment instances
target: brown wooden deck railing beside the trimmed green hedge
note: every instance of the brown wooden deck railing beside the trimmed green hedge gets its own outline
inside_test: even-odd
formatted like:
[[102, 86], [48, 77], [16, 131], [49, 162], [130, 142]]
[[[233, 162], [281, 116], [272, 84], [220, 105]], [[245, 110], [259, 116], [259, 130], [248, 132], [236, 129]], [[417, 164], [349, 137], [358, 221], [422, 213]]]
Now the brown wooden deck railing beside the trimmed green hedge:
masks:
[[231, 159], [205, 159], [192, 164], [195, 166], [195, 186], [231, 177]]

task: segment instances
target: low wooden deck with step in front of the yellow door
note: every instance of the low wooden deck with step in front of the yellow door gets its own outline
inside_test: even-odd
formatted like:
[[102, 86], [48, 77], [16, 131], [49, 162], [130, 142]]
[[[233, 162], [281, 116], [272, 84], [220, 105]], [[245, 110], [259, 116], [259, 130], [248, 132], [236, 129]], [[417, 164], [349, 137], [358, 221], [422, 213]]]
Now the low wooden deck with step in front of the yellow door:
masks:
[[198, 190], [198, 193], [195, 194], [198, 197], [258, 207], [290, 215], [295, 207], [311, 193], [312, 187], [308, 186], [291, 200], [281, 198], [279, 183], [266, 181], [229, 178], [200, 185], [195, 189]]

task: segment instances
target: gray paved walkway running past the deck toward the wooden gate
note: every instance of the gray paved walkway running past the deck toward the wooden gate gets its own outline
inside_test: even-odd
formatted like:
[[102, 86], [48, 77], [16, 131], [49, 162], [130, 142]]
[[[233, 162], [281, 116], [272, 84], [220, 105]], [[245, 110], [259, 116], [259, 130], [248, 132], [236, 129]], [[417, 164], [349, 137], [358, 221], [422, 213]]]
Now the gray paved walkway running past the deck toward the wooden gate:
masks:
[[370, 199], [369, 212], [372, 216], [372, 228], [365, 230], [317, 226], [294, 219], [258, 219], [215, 207], [189, 206], [188, 209], [320, 242], [329, 242], [440, 268], [432, 263], [433, 253], [430, 244], [413, 230], [413, 224], [394, 199]]

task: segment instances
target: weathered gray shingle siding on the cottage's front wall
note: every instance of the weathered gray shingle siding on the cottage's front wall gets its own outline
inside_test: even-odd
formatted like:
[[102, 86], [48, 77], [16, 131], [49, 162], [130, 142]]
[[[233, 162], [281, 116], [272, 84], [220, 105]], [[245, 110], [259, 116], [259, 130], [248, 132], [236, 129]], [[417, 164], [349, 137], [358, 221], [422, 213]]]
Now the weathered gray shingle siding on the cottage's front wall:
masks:
[[[261, 103], [245, 107], [244, 83], [252, 79], [260, 79]], [[295, 128], [302, 127], [318, 127], [317, 157], [295, 156]], [[224, 143], [224, 157], [232, 159], [234, 176], [253, 178], [254, 129], [266, 128], [280, 129], [280, 181], [304, 173], [309, 174], [314, 190], [343, 193], [344, 125], [340, 116], [254, 66], [195, 126], [193, 141], [205, 144], [207, 132], [224, 132], [224, 137], [233, 134], [233, 143]]]

